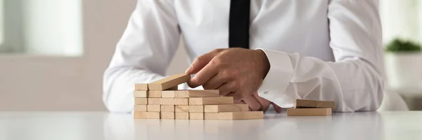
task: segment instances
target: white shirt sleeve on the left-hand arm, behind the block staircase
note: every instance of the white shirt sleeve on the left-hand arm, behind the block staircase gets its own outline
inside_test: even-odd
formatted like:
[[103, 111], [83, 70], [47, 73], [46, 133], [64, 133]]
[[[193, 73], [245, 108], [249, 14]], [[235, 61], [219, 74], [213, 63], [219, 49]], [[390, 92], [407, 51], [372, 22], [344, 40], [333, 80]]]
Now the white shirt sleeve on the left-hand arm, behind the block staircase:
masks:
[[132, 112], [134, 83], [165, 76], [179, 45], [180, 31], [171, 0], [140, 0], [103, 76], [109, 111]]

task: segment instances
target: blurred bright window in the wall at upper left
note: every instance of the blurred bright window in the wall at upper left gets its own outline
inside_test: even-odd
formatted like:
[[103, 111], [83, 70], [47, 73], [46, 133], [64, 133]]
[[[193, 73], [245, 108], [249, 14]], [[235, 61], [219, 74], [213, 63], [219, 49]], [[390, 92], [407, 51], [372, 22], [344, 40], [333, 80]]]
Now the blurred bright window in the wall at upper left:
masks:
[[82, 55], [81, 0], [0, 0], [0, 52]]

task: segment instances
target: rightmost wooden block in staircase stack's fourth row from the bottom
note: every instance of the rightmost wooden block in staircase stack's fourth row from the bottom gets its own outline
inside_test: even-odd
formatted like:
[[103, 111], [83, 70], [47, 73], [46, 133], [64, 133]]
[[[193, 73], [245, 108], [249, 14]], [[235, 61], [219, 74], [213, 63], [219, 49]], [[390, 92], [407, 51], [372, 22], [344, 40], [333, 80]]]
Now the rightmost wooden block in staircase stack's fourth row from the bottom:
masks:
[[175, 97], [188, 98], [188, 97], [219, 97], [219, 90], [177, 90]]

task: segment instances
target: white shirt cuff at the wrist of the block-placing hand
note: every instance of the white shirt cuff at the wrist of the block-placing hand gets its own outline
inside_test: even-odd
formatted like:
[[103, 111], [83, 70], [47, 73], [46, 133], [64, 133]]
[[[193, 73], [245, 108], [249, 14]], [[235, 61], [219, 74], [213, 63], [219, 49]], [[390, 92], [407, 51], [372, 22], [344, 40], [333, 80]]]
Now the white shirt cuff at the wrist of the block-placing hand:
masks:
[[294, 71], [290, 56], [286, 52], [258, 49], [264, 51], [270, 64], [258, 94], [282, 108], [295, 106], [295, 94], [286, 92]]

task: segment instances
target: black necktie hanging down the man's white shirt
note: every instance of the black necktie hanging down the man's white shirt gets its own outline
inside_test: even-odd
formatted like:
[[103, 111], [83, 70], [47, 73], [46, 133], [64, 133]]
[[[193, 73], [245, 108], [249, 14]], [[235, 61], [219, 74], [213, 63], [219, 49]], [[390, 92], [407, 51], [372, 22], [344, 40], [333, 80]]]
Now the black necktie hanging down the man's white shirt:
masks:
[[250, 0], [231, 0], [229, 18], [229, 48], [249, 49]]

